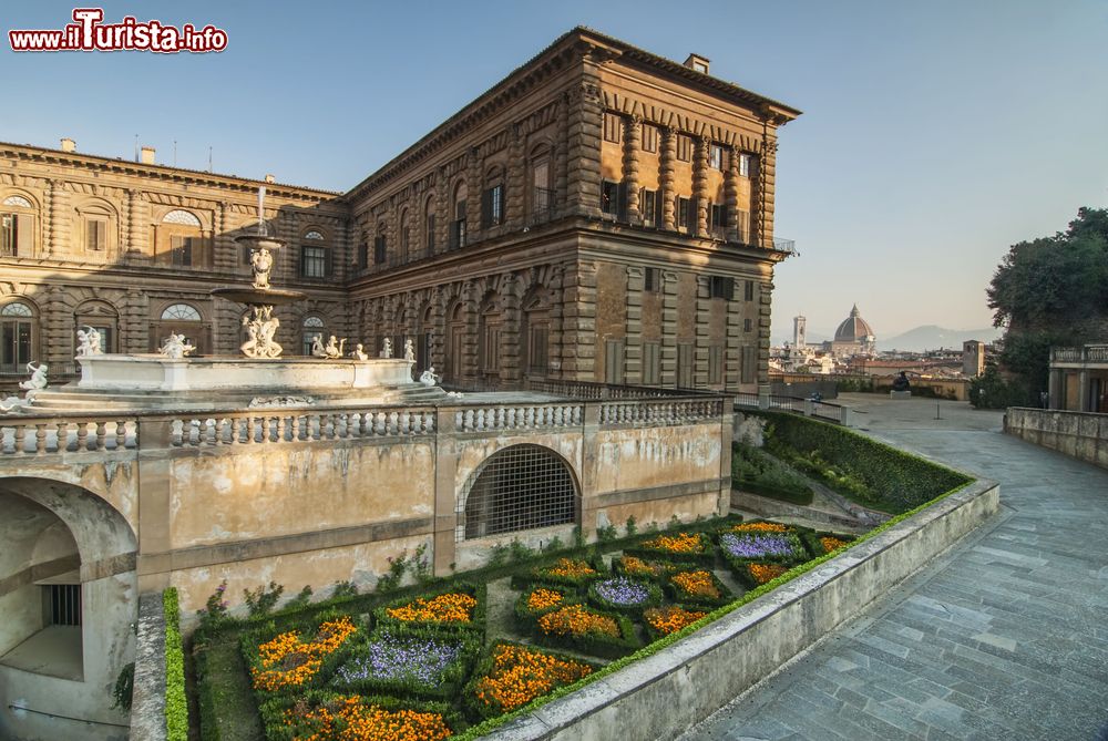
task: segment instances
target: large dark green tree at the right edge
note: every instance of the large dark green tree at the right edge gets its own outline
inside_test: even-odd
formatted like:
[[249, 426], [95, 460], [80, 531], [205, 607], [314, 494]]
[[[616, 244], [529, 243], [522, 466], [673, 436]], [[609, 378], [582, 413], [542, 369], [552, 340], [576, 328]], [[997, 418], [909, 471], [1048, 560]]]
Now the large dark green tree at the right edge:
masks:
[[1035, 403], [1051, 346], [1102, 339], [1095, 332], [1108, 316], [1108, 208], [1080, 208], [1066, 231], [1013, 245], [986, 294], [993, 325], [1006, 328], [999, 361], [1013, 395]]

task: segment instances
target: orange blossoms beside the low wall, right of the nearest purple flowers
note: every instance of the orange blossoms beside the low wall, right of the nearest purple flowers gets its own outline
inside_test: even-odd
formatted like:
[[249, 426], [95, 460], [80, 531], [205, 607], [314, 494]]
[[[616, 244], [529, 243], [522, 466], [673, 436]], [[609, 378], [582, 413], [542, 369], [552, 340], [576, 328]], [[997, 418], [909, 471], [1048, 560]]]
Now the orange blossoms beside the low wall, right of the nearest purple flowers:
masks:
[[474, 686], [481, 702], [504, 712], [592, 673], [587, 663], [558, 659], [522, 646], [497, 646], [493, 669]]

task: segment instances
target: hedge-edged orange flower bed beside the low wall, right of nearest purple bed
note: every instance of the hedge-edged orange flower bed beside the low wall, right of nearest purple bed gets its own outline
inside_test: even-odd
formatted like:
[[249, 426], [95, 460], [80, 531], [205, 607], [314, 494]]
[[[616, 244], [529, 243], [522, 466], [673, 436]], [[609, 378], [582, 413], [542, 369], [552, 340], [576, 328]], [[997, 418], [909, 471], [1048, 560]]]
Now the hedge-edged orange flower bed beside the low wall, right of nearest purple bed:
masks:
[[465, 703], [482, 718], [493, 718], [525, 706], [598, 667], [531, 646], [499, 642], [481, 661], [465, 688]]

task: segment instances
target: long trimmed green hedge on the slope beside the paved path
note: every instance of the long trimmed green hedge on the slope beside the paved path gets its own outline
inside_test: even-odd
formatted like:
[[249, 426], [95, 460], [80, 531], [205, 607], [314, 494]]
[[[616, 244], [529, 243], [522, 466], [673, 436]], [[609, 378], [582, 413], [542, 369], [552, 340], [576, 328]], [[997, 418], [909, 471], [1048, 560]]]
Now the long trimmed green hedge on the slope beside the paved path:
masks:
[[[745, 413], [772, 423], [766, 440], [770, 453], [800, 465], [844, 496], [860, 498], [878, 510], [899, 514], [973, 481], [834, 424], [782, 412]], [[848, 480], [862, 482], [866, 492], [855, 491], [850, 481], [812, 465], [813, 454], [845, 473]]]

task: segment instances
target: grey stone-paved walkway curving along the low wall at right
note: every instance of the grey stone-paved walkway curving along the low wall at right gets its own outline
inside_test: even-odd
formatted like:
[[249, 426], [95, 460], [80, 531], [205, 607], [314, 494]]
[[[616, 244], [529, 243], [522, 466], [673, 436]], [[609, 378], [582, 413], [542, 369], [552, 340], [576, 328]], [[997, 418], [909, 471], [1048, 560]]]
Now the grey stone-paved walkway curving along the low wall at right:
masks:
[[683, 741], [1100, 738], [1108, 471], [964, 403], [843, 401], [868, 434], [999, 482], [1002, 514]]

